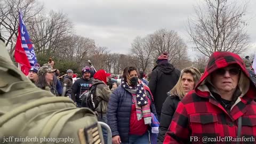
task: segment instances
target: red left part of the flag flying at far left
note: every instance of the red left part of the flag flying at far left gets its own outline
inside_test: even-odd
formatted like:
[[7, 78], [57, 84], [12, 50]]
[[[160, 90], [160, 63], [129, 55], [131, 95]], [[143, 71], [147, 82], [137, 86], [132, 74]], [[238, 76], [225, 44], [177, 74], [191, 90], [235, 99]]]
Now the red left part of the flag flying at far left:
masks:
[[27, 76], [31, 66], [28, 61], [27, 54], [21, 44], [20, 25], [18, 27], [18, 38], [17, 38], [17, 42], [15, 45], [14, 58], [15, 58], [16, 62], [20, 63], [22, 73]]

